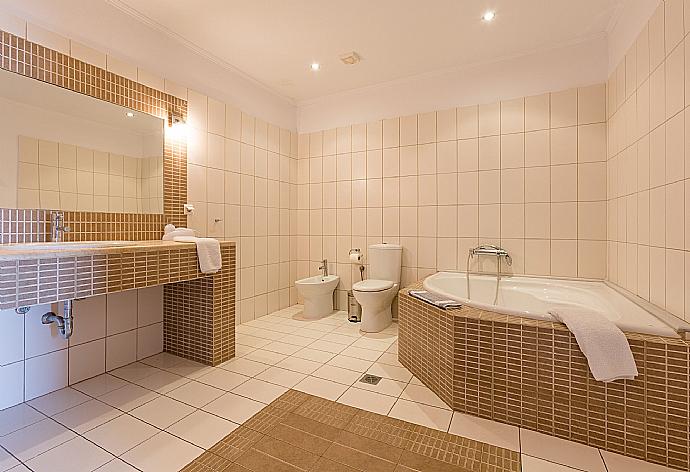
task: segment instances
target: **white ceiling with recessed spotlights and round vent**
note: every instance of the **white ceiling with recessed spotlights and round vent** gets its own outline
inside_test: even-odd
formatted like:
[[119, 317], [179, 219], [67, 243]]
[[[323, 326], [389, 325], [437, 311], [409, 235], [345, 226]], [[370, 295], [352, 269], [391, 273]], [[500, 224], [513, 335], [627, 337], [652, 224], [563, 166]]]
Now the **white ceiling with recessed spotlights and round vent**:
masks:
[[[577, 43], [623, 0], [105, 0], [300, 103]], [[496, 11], [492, 23], [481, 15]], [[341, 54], [362, 61], [346, 66]], [[313, 72], [317, 61], [321, 70]]]

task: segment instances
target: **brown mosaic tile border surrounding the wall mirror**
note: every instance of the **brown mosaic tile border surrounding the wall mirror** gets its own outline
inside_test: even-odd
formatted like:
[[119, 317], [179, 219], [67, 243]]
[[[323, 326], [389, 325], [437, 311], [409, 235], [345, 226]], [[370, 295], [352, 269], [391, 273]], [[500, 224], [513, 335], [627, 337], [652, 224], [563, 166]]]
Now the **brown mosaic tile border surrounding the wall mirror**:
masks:
[[[172, 115], [186, 120], [187, 102], [160, 90], [147, 87], [143, 84], [118, 76], [105, 69], [93, 66], [86, 62], [74, 59], [66, 54], [59, 53], [40, 44], [27, 41], [0, 30], [0, 68], [17, 74], [40, 80], [49, 84], [63, 87], [74, 92], [82, 93], [99, 100], [105, 100], [116, 105], [124, 106], [135, 111], [148, 113], [164, 120], [169, 120]], [[187, 142], [186, 139], [175, 137], [174, 133], [165, 133], [163, 148], [163, 213], [164, 215], [145, 215], [151, 219], [159, 219], [177, 226], [187, 225], [187, 216], [184, 214], [183, 205], [187, 203]], [[3, 210], [12, 211], [12, 210]], [[39, 211], [40, 213], [40, 211]], [[129, 223], [131, 215], [99, 213], [69, 212], [75, 219], [75, 223], [108, 222], [110, 229], [120, 233], [137, 235], [141, 228], [137, 225], [122, 226], [118, 223]], [[123, 218], [127, 216], [127, 218]], [[100, 219], [99, 219], [100, 218]], [[71, 220], [68, 219], [68, 222]], [[40, 225], [39, 225], [40, 226]], [[24, 229], [24, 228], [22, 228]], [[29, 229], [29, 228], [27, 228]], [[43, 228], [45, 229], [45, 228]], [[7, 233], [6, 231], [9, 231]], [[156, 232], [161, 229], [156, 227]], [[40, 234], [46, 234], [40, 227], [30, 228], [26, 232], [16, 229], [14, 232], [0, 226], [0, 241], [2, 243], [19, 242], [17, 235], [36, 236], [31, 241], [42, 241]], [[79, 233], [86, 238], [91, 231]], [[73, 236], [77, 237], [77, 236]], [[126, 237], [118, 239], [127, 239]], [[134, 238], [131, 238], [134, 239]], [[137, 240], [156, 239], [140, 235]], [[86, 240], [86, 239], [74, 239]], [[28, 242], [26, 239], [21, 242]]]

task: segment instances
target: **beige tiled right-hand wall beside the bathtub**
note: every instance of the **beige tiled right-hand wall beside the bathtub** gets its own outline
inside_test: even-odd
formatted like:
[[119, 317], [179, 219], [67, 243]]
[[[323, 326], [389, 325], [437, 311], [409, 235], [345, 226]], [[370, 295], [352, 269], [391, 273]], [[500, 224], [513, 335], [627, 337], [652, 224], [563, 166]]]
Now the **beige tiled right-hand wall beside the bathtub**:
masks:
[[607, 84], [608, 280], [690, 320], [690, 3], [666, 0]]

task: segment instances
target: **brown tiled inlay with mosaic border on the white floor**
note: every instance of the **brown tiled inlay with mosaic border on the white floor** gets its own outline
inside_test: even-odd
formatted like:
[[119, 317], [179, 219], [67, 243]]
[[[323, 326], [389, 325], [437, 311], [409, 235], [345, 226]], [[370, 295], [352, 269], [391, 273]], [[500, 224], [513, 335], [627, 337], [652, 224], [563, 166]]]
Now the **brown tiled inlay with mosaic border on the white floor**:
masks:
[[518, 472], [517, 452], [288, 390], [183, 472]]

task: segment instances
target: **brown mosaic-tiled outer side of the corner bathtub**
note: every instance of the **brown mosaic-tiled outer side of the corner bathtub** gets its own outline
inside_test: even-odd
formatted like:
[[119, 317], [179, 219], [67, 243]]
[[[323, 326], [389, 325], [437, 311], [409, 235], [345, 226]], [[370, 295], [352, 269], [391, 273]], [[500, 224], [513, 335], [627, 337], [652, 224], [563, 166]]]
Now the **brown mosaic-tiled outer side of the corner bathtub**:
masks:
[[597, 382], [560, 323], [399, 300], [399, 359], [455, 411], [690, 469], [690, 344], [626, 334], [640, 375]]

